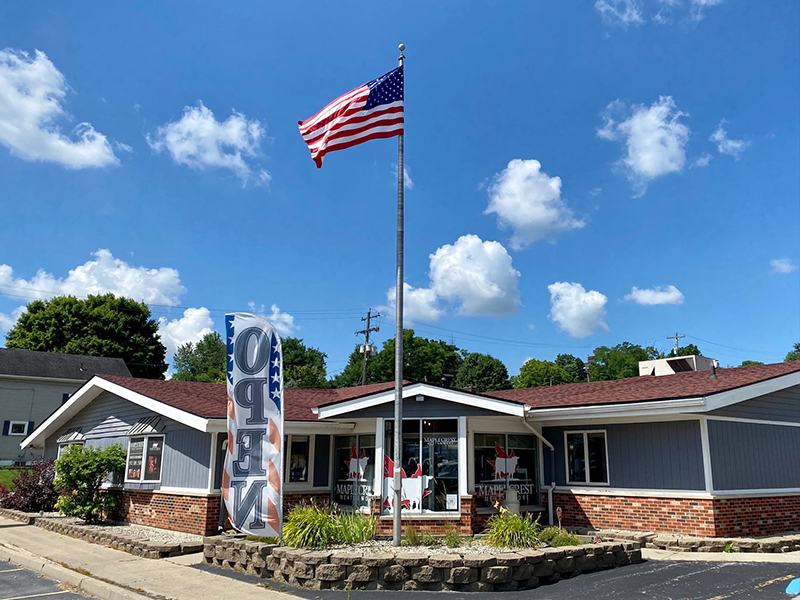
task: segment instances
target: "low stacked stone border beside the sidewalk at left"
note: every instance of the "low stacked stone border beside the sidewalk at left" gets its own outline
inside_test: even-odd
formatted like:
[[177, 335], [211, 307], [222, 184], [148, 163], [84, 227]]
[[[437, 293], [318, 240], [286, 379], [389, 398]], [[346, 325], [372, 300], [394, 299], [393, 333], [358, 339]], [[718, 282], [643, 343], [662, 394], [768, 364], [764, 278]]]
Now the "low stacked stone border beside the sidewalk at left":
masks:
[[65, 523], [64, 520], [59, 517], [40, 517], [36, 514], [24, 513], [18, 510], [0, 509], [0, 516], [20, 521], [26, 525], [35, 525], [47, 531], [62, 533], [93, 544], [101, 544], [110, 548], [116, 548], [117, 550], [122, 550], [123, 552], [128, 552], [129, 554], [142, 558], [168, 558], [170, 556], [193, 554], [203, 549], [203, 544], [201, 542], [170, 544], [150, 541], [143, 538], [128, 537], [118, 533], [103, 531], [102, 525], [92, 526]]

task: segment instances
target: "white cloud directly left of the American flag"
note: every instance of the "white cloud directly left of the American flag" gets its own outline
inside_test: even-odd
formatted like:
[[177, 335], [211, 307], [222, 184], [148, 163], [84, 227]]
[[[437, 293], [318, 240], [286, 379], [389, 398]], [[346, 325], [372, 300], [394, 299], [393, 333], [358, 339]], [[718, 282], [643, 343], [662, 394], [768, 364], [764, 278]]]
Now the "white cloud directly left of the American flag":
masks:
[[217, 121], [198, 101], [197, 106], [184, 107], [180, 120], [161, 125], [155, 136], [147, 135], [147, 143], [156, 152], [169, 152], [179, 165], [230, 169], [244, 184], [266, 184], [272, 176], [246, 160], [258, 154], [264, 136], [259, 121], [236, 111], [226, 121]]

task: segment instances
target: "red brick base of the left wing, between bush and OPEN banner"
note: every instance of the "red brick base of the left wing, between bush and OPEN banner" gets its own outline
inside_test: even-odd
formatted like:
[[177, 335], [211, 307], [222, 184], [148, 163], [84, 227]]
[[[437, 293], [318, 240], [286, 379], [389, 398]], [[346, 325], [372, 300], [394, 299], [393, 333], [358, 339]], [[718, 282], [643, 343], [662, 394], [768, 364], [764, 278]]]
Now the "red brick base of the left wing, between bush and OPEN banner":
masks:
[[117, 497], [112, 519], [198, 535], [217, 532], [220, 496], [182, 496], [150, 490], [111, 493]]

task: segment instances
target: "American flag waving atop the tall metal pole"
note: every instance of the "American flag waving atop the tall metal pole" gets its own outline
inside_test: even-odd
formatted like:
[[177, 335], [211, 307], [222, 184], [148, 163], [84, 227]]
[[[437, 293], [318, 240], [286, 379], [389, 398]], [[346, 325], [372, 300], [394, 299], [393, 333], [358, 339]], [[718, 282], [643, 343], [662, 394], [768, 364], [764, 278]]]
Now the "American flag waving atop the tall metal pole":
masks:
[[298, 125], [317, 168], [328, 152], [401, 135], [403, 67], [339, 96]]

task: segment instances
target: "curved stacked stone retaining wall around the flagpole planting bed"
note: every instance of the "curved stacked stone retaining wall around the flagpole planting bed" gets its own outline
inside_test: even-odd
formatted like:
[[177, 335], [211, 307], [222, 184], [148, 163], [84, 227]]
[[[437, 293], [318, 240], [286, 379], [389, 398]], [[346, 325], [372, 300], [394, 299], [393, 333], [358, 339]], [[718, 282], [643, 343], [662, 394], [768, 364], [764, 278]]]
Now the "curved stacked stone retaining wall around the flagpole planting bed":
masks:
[[501, 554], [356, 553], [287, 548], [220, 535], [205, 538], [207, 564], [312, 590], [493, 592], [555, 583], [641, 562], [637, 542], [606, 542]]

